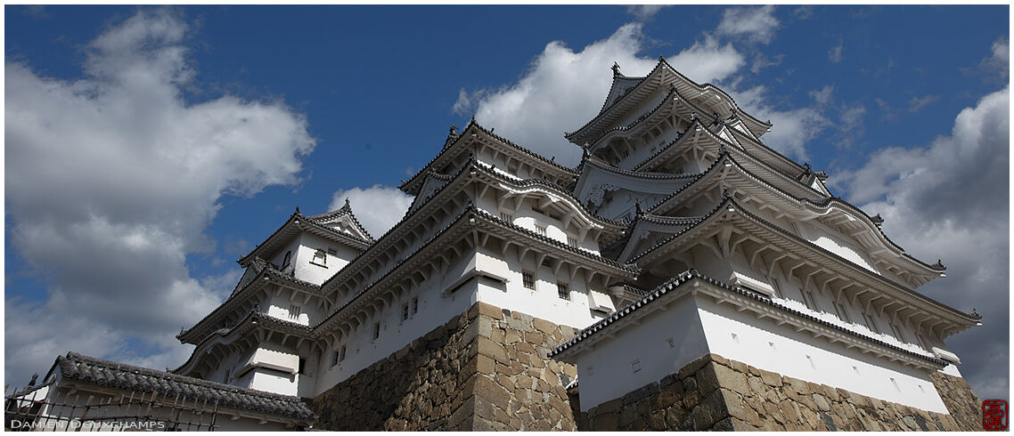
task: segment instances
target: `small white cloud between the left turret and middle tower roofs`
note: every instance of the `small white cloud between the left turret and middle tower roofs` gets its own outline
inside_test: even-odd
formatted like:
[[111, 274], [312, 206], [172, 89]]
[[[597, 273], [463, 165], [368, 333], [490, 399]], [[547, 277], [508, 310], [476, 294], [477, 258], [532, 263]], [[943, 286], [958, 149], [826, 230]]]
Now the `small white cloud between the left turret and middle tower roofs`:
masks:
[[328, 210], [342, 207], [346, 198], [359, 224], [373, 238], [379, 238], [405, 216], [413, 197], [394, 186], [375, 184], [365, 189], [357, 186], [335, 192]]

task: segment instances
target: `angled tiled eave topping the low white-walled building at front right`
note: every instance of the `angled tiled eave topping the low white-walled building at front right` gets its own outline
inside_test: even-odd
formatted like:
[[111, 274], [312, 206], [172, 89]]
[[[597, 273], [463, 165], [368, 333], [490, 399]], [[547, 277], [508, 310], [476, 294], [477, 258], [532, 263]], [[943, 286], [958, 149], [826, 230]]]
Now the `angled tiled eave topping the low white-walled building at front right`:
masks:
[[728, 285], [728, 284], [726, 284], [724, 282], [721, 282], [719, 280], [716, 280], [714, 278], [711, 278], [711, 277], [708, 277], [708, 276], [706, 276], [704, 274], [701, 274], [696, 269], [690, 269], [687, 271], [679, 273], [679, 275], [673, 277], [669, 281], [666, 281], [665, 283], [659, 285], [658, 287], [650, 290], [647, 294], [645, 294], [643, 297], [641, 297], [637, 301], [634, 301], [634, 302], [630, 303], [629, 306], [627, 306], [626, 308], [617, 311], [615, 313], [613, 313], [612, 315], [610, 315], [608, 318], [605, 318], [605, 319], [603, 319], [603, 320], [601, 320], [601, 321], [599, 321], [599, 322], [597, 322], [595, 324], [592, 324], [588, 328], [582, 330], [580, 333], [578, 333], [577, 335], [575, 335], [573, 338], [571, 338], [571, 339], [567, 340], [566, 342], [564, 342], [564, 343], [562, 343], [562, 344], [557, 345], [556, 347], [554, 347], [553, 351], [551, 351], [549, 353], [548, 357], [553, 357], [553, 356], [556, 356], [556, 355], [564, 352], [568, 348], [571, 348], [574, 345], [577, 345], [577, 343], [579, 343], [579, 342], [587, 339], [588, 337], [591, 337], [592, 335], [594, 335], [594, 334], [602, 331], [603, 329], [608, 328], [609, 325], [611, 325], [611, 324], [620, 321], [623, 318], [626, 318], [626, 317], [630, 316], [631, 314], [633, 314], [634, 312], [637, 312], [641, 308], [644, 308], [645, 306], [650, 304], [652, 301], [654, 301], [656, 299], [659, 299], [662, 295], [664, 295], [664, 294], [666, 294], [666, 293], [668, 293], [668, 292], [670, 292], [672, 290], [678, 289], [683, 283], [686, 283], [687, 281], [690, 281], [692, 279], [695, 279], [695, 278], [701, 279], [703, 281], [706, 281], [706, 282], [708, 282], [708, 283], [710, 283], [712, 285], [715, 285], [716, 287], [719, 287], [721, 289], [724, 289], [726, 291], [734, 292], [734, 293], [740, 294], [742, 296], [746, 296], [746, 297], [751, 298], [751, 299], [753, 299], [755, 301], [764, 303], [764, 304], [766, 304], [766, 306], [768, 306], [770, 308], [774, 308], [774, 309], [777, 309], [777, 310], [779, 310], [781, 312], [784, 312], [784, 313], [787, 313], [787, 314], [790, 314], [790, 315], [794, 315], [796, 317], [802, 318], [802, 319], [807, 320], [809, 322], [819, 324], [822, 327], [837, 330], [839, 332], [842, 332], [842, 333], [845, 333], [847, 335], [850, 335], [850, 336], [862, 339], [864, 341], [874, 343], [874, 344], [879, 345], [881, 347], [888, 348], [888, 349], [891, 349], [893, 351], [896, 351], [896, 352], [899, 352], [899, 353], [903, 353], [903, 354], [907, 354], [907, 355], [910, 355], [910, 356], [913, 356], [913, 357], [917, 357], [917, 358], [920, 358], [920, 359], [923, 359], [923, 360], [926, 360], [926, 361], [929, 361], [929, 362], [932, 362], [932, 363], [935, 363], [935, 364], [938, 364], [938, 365], [941, 365], [941, 366], [947, 364], [946, 361], [944, 361], [944, 360], [942, 360], [942, 359], [940, 359], [938, 357], [932, 357], [932, 356], [924, 355], [924, 354], [917, 353], [917, 352], [914, 352], [914, 351], [911, 351], [911, 350], [907, 350], [907, 349], [898, 347], [896, 345], [888, 344], [888, 343], [886, 343], [884, 341], [881, 341], [879, 339], [872, 338], [872, 337], [864, 335], [862, 333], [855, 332], [855, 331], [853, 331], [851, 329], [847, 329], [847, 328], [839, 326], [837, 324], [829, 323], [827, 321], [821, 320], [821, 319], [816, 318], [816, 317], [814, 317], [812, 315], [804, 314], [802, 312], [799, 312], [799, 311], [796, 311], [794, 309], [788, 308], [786, 306], [780, 304], [778, 302], [775, 302], [771, 298], [769, 298], [769, 297], [767, 297], [765, 295], [762, 295], [762, 294], [759, 294], [757, 292], [754, 292], [754, 291], [751, 291], [751, 290], [746, 290], [746, 289], [743, 289], [743, 288], [738, 287], [738, 286], [730, 286], [730, 285]]

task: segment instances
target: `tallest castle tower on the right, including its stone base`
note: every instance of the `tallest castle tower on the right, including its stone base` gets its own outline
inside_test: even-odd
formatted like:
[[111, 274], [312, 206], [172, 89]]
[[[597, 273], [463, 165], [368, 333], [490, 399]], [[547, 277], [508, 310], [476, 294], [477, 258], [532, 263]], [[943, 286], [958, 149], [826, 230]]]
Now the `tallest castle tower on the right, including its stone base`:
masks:
[[585, 152], [575, 195], [630, 220], [603, 253], [639, 270], [615, 286], [630, 306], [551, 353], [577, 365], [579, 427], [976, 429], [943, 341], [980, 317], [916, 291], [944, 266], [767, 147], [770, 129], [660, 59], [641, 78], [614, 67], [567, 135]]

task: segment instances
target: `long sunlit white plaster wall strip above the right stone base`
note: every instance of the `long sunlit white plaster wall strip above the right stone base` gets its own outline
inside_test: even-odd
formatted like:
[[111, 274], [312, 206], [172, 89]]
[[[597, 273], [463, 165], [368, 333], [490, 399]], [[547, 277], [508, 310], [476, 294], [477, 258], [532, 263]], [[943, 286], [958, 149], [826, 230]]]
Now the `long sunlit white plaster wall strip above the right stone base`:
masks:
[[785, 376], [947, 413], [924, 370], [829, 344], [806, 332], [776, 326], [771, 320], [758, 321], [749, 313], [737, 313], [707, 297], [698, 298], [698, 304], [712, 353]]

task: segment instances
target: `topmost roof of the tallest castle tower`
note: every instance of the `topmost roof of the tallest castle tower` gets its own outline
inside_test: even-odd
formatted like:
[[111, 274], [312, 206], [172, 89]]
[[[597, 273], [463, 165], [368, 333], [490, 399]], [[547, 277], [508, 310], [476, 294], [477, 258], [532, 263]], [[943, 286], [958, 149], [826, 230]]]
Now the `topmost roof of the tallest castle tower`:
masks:
[[[750, 134], [759, 138], [771, 130], [770, 121], [762, 121], [746, 113], [725, 91], [710, 84], [698, 84], [683, 76], [665, 58], [659, 57], [658, 64], [645, 77], [627, 77], [620, 73], [619, 65], [612, 67], [612, 86], [605, 98], [598, 115], [577, 130], [566, 134], [571, 143], [583, 147], [610, 128], [631, 109], [639, 106], [658, 90], [664, 92], [669, 85], [674, 85], [678, 92], [692, 99], [698, 105], [717, 113], [721, 117], [738, 117], [749, 129]], [[702, 114], [702, 116], [705, 114]]]

